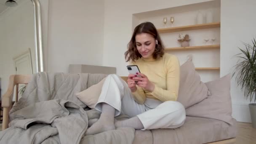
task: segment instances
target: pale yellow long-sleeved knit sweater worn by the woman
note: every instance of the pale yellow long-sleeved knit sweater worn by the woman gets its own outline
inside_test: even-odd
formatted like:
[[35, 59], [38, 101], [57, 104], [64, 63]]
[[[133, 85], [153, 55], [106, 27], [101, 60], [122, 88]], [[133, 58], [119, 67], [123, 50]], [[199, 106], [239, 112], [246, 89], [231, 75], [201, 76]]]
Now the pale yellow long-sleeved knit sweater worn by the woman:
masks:
[[150, 82], [155, 84], [154, 91], [146, 91], [136, 85], [137, 90], [133, 92], [135, 101], [143, 104], [146, 98], [160, 101], [176, 101], [179, 91], [180, 66], [176, 56], [165, 53], [158, 60], [141, 57], [132, 63], [137, 65], [141, 73], [146, 75]]

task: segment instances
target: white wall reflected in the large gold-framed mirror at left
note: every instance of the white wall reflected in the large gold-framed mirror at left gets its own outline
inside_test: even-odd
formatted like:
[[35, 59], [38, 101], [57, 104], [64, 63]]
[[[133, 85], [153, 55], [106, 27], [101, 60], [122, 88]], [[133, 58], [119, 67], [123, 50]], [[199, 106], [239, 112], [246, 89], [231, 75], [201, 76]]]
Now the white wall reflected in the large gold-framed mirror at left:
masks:
[[7, 90], [9, 76], [15, 74], [13, 57], [31, 48], [35, 72], [35, 39], [33, 6], [30, 0], [18, 1], [18, 6], [0, 13], [0, 77], [2, 94]]

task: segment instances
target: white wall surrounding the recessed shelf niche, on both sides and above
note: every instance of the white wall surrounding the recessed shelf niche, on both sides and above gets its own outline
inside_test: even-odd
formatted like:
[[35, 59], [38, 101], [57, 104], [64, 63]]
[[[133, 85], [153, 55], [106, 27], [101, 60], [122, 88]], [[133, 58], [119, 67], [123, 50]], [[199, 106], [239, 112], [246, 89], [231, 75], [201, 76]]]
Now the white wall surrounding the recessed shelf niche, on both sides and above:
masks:
[[[134, 13], [154, 11], [210, 0], [106, 0], [104, 11], [104, 54], [103, 65], [117, 67], [118, 75], [128, 75], [124, 52], [132, 34]], [[115, 7], [113, 7], [115, 5]], [[231, 72], [236, 59], [240, 40], [250, 42], [255, 37], [255, 0], [221, 0], [221, 54], [220, 75]], [[238, 121], [250, 122], [248, 101], [243, 99], [240, 88], [231, 81], [233, 117]]]

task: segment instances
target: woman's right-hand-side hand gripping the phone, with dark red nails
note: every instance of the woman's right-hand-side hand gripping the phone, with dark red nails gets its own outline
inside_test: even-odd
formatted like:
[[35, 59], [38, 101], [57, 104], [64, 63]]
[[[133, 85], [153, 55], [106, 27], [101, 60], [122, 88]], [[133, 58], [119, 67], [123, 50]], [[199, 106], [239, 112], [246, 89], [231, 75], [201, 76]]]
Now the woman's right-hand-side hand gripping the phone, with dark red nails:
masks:
[[[135, 75], [135, 77], [133, 77], [133, 80], [138, 81], [137, 85], [146, 89], [147, 91], [154, 91], [155, 89], [155, 84], [150, 82], [149, 79], [147, 78], [146, 75], [142, 74], [142, 73], [136, 73], [137, 75], [140, 75], [141, 77], [137, 77]], [[135, 82], [134, 82], [135, 83]]]

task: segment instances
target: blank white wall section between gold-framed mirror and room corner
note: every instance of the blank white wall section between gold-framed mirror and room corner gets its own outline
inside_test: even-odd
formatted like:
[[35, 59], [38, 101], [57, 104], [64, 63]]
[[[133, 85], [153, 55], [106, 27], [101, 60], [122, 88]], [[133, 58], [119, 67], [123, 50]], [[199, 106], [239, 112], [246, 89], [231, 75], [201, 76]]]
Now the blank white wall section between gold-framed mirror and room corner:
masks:
[[104, 0], [50, 0], [48, 18], [48, 72], [102, 64]]

